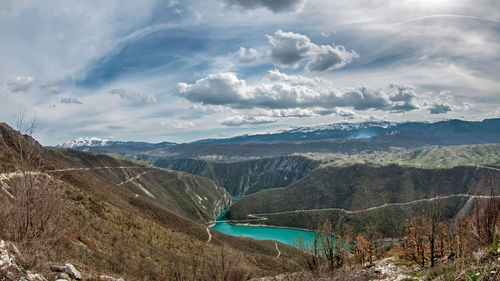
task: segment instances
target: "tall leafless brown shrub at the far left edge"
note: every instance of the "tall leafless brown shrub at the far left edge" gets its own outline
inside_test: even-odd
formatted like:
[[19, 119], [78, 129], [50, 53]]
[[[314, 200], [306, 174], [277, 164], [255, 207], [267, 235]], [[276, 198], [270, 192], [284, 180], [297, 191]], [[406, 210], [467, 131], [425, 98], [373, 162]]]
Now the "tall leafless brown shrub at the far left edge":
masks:
[[[17, 122], [21, 133], [32, 134], [35, 119], [27, 123], [25, 113]], [[2, 185], [0, 235], [21, 249], [20, 262], [27, 269], [41, 266], [54, 254], [64, 236], [63, 193], [56, 180], [41, 172], [41, 147], [29, 135], [13, 135], [18, 171]]]

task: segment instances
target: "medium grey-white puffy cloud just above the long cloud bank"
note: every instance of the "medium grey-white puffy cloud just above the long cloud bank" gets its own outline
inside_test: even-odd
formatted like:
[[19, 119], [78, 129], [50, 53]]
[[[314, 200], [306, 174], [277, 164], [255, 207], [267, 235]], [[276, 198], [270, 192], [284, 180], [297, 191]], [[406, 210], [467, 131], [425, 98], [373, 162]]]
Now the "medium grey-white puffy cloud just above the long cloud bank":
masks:
[[318, 46], [299, 33], [278, 30], [274, 35], [267, 35], [272, 45], [271, 60], [281, 67], [296, 69], [303, 61], [308, 61], [307, 71], [328, 71], [338, 69], [359, 57], [355, 51], [347, 51], [341, 45]]

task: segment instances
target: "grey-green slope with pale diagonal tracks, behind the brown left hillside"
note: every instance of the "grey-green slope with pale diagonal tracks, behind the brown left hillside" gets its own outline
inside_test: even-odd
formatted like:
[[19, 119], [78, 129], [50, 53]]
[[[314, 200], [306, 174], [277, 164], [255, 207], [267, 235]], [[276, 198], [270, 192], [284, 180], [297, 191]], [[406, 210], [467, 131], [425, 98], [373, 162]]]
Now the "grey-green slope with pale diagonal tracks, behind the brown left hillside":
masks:
[[71, 149], [47, 151], [73, 167], [85, 169], [124, 190], [148, 197], [162, 206], [168, 206], [178, 215], [203, 224], [210, 224], [231, 204], [231, 196], [207, 178]]

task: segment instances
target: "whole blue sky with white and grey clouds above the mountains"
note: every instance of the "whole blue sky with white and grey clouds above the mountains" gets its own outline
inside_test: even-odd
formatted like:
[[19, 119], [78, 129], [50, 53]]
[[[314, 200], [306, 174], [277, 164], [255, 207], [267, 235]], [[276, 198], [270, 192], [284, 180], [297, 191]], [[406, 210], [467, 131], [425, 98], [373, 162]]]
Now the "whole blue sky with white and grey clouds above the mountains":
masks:
[[500, 117], [497, 0], [0, 0], [0, 38], [44, 145]]

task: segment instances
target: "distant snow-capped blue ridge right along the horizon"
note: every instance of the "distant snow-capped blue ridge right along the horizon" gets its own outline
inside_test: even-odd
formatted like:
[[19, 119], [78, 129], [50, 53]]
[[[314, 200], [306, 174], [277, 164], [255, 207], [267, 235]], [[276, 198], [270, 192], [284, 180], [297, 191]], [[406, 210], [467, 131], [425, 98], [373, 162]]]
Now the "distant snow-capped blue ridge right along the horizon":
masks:
[[[202, 139], [185, 144], [214, 144], [214, 143], [260, 143], [260, 142], [304, 142], [337, 139], [366, 139], [381, 135], [390, 135], [394, 132], [412, 131], [426, 135], [460, 134], [460, 133], [484, 133], [500, 135], [500, 118], [485, 119], [483, 121], [463, 121], [450, 119], [439, 122], [392, 122], [392, 121], [368, 121], [360, 123], [335, 123], [317, 126], [299, 127], [279, 132], [263, 134], [246, 134], [223, 139]], [[495, 138], [499, 141], [500, 138]], [[137, 141], [114, 141], [97, 137], [78, 138], [65, 142], [57, 147], [74, 148], [90, 151], [98, 147], [129, 148], [131, 150], [142, 150], [167, 148], [178, 145], [173, 142], [148, 143]], [[93, 148], [93, 149], [91, 149]], [[97, 151], [96, 151], [97, 152]]]

